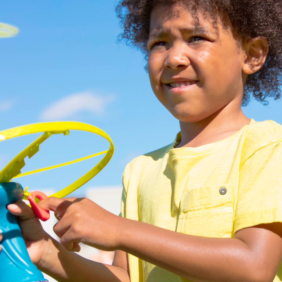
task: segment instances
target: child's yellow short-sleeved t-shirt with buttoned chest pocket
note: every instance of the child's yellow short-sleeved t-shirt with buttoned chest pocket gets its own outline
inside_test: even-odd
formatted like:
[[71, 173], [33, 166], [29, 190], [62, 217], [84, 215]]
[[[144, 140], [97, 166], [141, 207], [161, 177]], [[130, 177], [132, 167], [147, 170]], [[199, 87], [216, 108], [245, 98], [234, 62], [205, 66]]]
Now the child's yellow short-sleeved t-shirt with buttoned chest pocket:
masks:
[[[190, 235], [232, 238], [242, 228], [282, 222], [282, 125], [251, 119], [199, 147], [175, 141], [125, 167], [121, 216]], [[188, 281], [128, 254], [135, 281]], [[282, 281], [282, 264], [274, 281]]]

